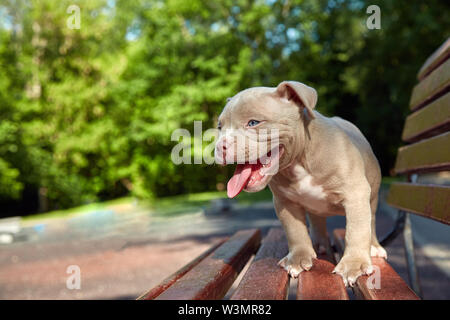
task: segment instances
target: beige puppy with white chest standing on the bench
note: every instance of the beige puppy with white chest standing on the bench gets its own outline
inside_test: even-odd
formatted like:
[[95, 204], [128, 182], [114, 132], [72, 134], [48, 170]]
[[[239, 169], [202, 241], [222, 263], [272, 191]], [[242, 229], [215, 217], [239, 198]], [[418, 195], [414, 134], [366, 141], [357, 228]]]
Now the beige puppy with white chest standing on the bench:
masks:
[[380, 166], [356, 126], [321, 115], [316, 103], [316, 90], [295, 81], [239, 92], [219, 116], [215, 159], [238, 163], [231, 198], [269, 185], [289, 245], [279, 265], [292, 277], [312, 267], [315, 249], [329, 250], [326, 217], [345, 215], [345, 252], [333, 272], [353, 286], [373, 272], [371, 256], [387, 258], [375, 234]]

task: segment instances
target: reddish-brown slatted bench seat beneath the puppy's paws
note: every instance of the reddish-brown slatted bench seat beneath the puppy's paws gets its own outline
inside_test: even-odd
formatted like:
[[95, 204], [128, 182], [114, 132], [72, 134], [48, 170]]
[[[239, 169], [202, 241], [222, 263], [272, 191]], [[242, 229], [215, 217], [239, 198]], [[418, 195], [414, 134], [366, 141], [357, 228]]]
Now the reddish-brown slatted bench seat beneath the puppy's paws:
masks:
[[[343, 252], [344, 235], [343, 229], [334, 231], [338, 254]], [[262, 241], [258, 229], [242, 230], [213, 246], [138, 299], [212, 300], [228, 296], [231, 300], [284, 300], [291, 279], [277, 262], [287, 253], [287, 241], [281, 228], [270, 229]], [[371, 288], [369, 276], [362, 276], [353, 288], [357, 298], [418, 299], [384, 259], [374, 258], [372, 262], [380, 270], [380, 287]], [[229, 292], [247, 263], [250, 265], [239, 284]], [[299, 275], [296, 298], [348, 300], [341, 277], [331, 273], [334, 266], [334, 255], [319, 256], [310, 271]]]

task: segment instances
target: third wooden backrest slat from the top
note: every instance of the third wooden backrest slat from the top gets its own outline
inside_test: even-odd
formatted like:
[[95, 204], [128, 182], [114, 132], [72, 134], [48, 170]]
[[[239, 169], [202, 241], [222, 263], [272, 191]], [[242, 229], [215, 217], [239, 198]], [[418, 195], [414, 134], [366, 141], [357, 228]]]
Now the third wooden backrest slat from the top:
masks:
[[415, 142], [450, 130], [450, 93], [406, 118], [402, 139]]

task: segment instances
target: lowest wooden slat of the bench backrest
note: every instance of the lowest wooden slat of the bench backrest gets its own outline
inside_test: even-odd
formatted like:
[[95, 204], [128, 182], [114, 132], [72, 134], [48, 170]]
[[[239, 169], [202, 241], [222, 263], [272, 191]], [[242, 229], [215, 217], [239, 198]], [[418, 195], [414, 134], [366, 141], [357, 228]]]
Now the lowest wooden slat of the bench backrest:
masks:
[[398, 209], [450, 224], [450, 186], [393, 183], [387, 203]]

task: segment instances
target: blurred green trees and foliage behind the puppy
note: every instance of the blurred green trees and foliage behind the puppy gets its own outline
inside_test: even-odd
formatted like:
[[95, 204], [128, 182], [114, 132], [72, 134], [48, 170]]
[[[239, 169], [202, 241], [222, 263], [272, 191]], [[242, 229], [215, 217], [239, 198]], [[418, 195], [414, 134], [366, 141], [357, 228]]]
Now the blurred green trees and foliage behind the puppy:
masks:
[[[70, 29], [70, 5], [81, 13]], [[381, 8], [368, 30], [366, 8]], [[0, 216], [223, 190], [232, 168], [175, 165], [177, 128], [282, 80], [354, 122], [384, 175], [449, 2], [1, 0]]]

